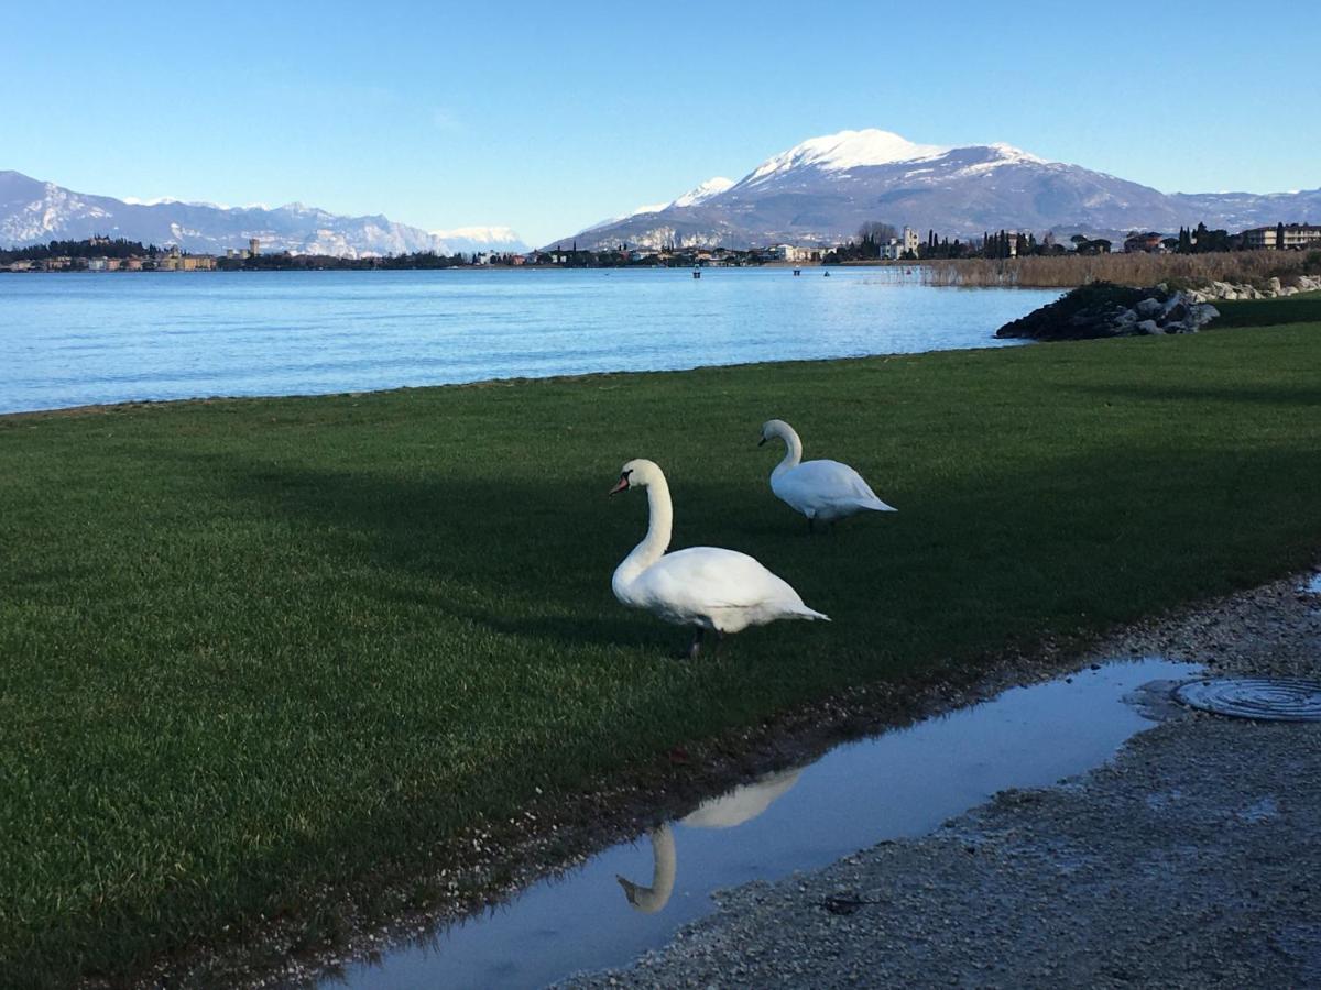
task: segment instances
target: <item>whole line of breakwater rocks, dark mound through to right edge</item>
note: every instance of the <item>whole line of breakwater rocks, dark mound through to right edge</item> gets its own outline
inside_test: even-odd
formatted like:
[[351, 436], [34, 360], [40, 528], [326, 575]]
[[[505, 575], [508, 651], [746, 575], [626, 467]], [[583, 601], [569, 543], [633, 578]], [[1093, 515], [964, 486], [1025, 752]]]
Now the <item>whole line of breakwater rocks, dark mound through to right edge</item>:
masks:
[[1258, 285], [1213, 281], [1196, 289], [1172, 289], [1161, 282], [1135, 289], [1090, 282], [1054, 302], [1005, 323], [995, 335], [1029, 341], [1090, 341], [1100, 337], [1190, 334], [1219, 315], [1213, 302], [1264, 300], [1321, 289], [1321, 276], [1299, 275], [1289, 285], [1269, 279]]

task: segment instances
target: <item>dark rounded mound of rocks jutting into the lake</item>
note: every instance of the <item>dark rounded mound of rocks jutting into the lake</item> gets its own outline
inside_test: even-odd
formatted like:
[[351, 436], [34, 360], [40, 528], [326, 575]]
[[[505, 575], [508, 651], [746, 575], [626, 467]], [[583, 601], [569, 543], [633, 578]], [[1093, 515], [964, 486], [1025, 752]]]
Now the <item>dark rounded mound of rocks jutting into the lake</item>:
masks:
[[1219, 312], [1205, 300], [1164, 285], [1133, 289], [1091, 282], [1054, 302], [1005, 323], [995, 335], [1030, 341], [1090, 341], [1099, 337], [1188, 334], [1202, 329]]

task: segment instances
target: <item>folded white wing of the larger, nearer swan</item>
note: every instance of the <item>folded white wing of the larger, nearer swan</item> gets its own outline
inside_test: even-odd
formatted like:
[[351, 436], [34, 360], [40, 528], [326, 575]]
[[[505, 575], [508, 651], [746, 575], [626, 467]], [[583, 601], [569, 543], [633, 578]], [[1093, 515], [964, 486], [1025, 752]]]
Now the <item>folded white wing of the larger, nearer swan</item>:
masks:
[[683, 603], [696, 612], [766, 603], [806, 607], [786, 581], [756, 558], [716, 546], [667, 553], [642, 572], [635, 587], [654, 601]]

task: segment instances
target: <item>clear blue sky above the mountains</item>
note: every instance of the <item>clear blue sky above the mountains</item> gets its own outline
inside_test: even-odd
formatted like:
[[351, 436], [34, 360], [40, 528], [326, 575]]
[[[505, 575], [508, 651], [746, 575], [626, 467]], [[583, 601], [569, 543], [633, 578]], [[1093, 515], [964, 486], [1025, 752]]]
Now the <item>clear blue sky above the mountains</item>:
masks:
[[546, 243], [799, 141], [1321, 186], [1321, 3], [11, 3], [0, 169]]

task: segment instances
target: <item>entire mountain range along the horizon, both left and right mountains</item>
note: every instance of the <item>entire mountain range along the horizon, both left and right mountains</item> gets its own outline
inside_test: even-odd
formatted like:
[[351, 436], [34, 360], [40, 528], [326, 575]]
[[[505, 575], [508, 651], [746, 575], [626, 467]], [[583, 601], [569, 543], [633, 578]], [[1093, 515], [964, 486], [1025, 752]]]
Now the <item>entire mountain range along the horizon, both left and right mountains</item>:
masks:
[[[1128, 230], [1173, 232], [1199, 222], [1238, 231], [1321, 222], [1321, 189], [1161, 193], [1008, 144], [947, 148], [914, 144], [888, 131], [840, 131], [775, 154], [737, 182], [716, 177], [555, 243], [576, 240], [580, 248], [835, 244], [868, 220], [964, 239], [997, 230], [1115, 238]], [[269, 209], [116, 199], [0, 172], [0, 247], [96, 234], [207, 253], [246, 247], [250, 238], [260, 240], [263, 251], [345, 257], [527, 249], [509, 227], [427, 231], [380, 215], [339, 216], [301, 203]]]

